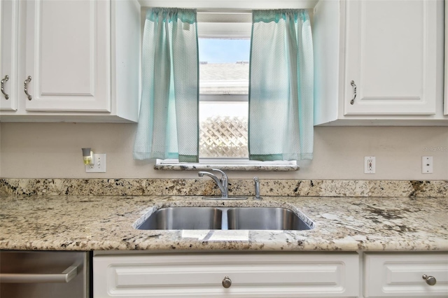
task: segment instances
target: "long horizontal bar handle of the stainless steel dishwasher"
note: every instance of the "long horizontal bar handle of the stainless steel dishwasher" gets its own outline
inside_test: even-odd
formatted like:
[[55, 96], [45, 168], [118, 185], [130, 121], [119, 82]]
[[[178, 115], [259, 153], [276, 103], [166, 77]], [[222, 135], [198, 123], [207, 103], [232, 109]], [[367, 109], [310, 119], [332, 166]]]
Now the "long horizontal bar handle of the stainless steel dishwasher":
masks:
[[78, 275], [78, 264], [72, 264], [62, 274], [0, 274], [0, 283], [68, 283]]

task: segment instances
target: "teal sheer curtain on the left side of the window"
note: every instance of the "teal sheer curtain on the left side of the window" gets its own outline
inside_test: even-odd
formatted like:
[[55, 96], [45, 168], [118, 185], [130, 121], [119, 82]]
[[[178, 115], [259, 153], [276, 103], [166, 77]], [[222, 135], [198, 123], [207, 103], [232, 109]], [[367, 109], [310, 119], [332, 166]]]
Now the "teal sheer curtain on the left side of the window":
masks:
[[196, 10], [149, 8], [135, 159], [199, 161]]

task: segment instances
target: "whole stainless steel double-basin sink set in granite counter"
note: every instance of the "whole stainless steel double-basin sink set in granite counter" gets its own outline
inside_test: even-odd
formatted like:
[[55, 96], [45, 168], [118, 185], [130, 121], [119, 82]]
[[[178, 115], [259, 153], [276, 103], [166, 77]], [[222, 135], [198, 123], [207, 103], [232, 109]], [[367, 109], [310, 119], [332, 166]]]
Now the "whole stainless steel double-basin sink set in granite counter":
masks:
[[[307, 223], [309, 222], [309, 223]], [[276, 207], [166, 207], [134, 224], [136, 229], [306, 230], [314, 227], [293, 211]]]

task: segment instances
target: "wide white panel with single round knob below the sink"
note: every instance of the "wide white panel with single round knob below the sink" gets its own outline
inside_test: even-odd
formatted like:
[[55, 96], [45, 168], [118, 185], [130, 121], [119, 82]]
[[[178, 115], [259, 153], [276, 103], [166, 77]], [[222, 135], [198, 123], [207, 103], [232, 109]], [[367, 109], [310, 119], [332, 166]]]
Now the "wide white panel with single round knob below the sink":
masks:
[[97, 255], [94, 298], [358, 297], [356, 253]]

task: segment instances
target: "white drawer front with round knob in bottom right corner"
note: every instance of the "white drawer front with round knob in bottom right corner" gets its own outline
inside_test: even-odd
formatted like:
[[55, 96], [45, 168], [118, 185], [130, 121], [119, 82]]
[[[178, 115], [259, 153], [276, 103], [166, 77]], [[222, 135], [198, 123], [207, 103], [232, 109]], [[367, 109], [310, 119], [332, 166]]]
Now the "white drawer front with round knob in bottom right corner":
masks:
[[448, 253], [364, 257], [365, 297], [448, 297]]

